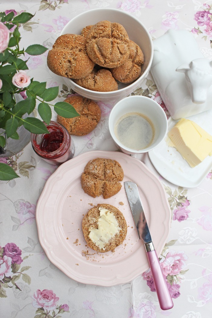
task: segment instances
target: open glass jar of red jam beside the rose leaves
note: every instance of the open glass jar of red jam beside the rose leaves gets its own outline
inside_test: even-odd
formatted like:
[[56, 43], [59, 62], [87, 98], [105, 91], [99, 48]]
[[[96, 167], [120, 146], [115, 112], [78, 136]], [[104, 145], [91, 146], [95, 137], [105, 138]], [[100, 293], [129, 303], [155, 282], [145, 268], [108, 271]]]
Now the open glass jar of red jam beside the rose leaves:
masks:
[[51, 164], [61, 164], [74, 156], [74, 143], [67, 129], [56, 121], [45, 124], [49, 134], [31, 134], [31, 144], [38, 156]]

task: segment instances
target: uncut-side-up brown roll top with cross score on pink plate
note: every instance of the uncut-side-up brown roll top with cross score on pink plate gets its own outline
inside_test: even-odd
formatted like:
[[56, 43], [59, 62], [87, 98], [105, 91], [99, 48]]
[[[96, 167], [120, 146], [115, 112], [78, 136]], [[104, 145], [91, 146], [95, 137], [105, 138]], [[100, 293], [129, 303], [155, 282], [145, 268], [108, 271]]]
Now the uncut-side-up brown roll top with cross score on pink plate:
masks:
[[81, 176], [82, 188], [91, 197], [105, 199], [121, 190], [124, 172], [116, 160], [96, 158], [89, 161]]

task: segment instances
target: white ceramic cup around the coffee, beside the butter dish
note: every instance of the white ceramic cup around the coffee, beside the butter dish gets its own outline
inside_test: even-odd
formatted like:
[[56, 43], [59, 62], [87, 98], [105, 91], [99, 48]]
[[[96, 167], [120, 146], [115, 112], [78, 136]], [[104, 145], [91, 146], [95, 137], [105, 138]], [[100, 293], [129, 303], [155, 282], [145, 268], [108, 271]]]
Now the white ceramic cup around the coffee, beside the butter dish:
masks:
[[[140, 113], [147, 116], [154, 126], [154, 140], [150, 144], [149, 147], [140, 150], [130, 149], [125, 147], [116, 137], [114, 133], [114, 128], [116, 126], [117, 121], [120, 117], [124, 116], [128, 113]], [[167, 130], [168, 130], [168, 120], [167, 116], [162, 109], [162, 107], [154, 100], [146, 96], [128, 96], [118, 101], [115, 106], [112, 108], [108, 126], [110, 134], [113, 138], [113, 141], [116, 143], [118, 148], [128, 154], [141, 154], [153, 150], [157, 147], [164, 139]]]

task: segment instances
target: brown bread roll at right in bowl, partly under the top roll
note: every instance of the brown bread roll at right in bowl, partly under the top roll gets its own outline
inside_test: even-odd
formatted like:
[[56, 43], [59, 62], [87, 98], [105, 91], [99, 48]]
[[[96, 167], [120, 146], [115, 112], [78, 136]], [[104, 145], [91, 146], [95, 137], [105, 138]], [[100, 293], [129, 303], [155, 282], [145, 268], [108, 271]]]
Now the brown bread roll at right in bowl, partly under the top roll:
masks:
[[140, 47], [130, 40], [130, 54], [128, 59], [116, 68], [111, 69], [113, 77], [121, 83], [132, 83], [141, 74], [141, 66], [144, 63], [144, 55]]

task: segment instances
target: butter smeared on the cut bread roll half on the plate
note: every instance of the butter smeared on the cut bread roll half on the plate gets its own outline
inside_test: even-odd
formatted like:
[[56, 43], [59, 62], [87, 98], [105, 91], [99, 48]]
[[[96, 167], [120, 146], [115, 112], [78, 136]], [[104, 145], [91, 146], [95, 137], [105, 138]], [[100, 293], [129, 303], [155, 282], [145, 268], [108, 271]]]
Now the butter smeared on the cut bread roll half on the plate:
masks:
[[89, 238], [99, 248], [105, 250], [105, 245], [116, 234], [119, 233], [120, 227], [113, 212], [99, 207], [98, 229], [90, 227]]

